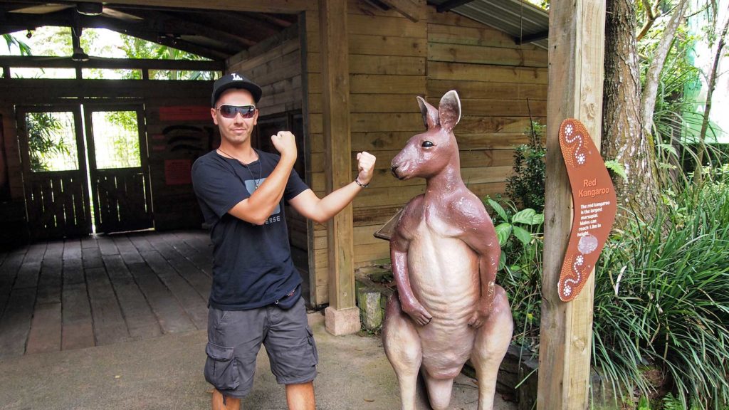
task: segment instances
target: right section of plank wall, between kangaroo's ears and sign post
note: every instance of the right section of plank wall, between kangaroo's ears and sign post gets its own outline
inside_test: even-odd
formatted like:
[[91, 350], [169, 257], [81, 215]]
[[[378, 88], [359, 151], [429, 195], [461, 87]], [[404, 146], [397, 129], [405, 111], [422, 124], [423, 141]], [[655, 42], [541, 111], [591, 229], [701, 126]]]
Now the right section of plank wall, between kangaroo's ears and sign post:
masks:
[[464, 182], [479, 197], [503, 193], [514, 146], [529, 142], [529, 117], [545, 123], [547, 50], [429, 7], [427, 71], [430, 104], [437, 107], [448, 90], [461, 98], [453, 132]]

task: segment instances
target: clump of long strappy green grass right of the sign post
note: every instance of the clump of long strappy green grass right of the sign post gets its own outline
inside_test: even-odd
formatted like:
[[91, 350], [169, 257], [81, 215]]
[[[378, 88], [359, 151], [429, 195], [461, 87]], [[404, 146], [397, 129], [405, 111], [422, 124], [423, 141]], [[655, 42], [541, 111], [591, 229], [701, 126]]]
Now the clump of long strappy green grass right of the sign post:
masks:
[[596, 267], [593, 365], [616, 392], [729, 405], [729, 179], [709, 171], [652, 223], [614, 234]]

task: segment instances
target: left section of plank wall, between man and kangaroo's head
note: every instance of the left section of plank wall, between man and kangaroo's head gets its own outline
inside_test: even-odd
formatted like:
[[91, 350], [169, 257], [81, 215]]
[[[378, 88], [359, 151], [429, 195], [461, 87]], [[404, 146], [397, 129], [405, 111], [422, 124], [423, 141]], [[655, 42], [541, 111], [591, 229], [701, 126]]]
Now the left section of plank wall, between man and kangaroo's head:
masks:
[[[424, 7], [424, 1], [418, 1]], [[354, 266], [373, 263], [389, 255], [388, 244], [373, 240], [381, 225], [376, 211], [378, 202], [389, 196], [391, 187], [381, 185], [389, 181], [386, 168], [389, 160], [381, 157], [373, 139], [397, 139], [394, 146], [402, 146], [410, 136], [422, 129], [415, 96], [426, 94], [426, 23], [405, 18], [395, 10], [383, 11], [362, 1], [348, 1], [348, 68], [349, 68], [349, 122], [351, 131], [351, 173], [356, 177], [356, 152], [367, 150], [378, 156], [378, 171], [373, 185], [355, 198], [353, 203]], [[319, 15], [306, 14], [306, 69], [308, 84], [308, 136], [311, 150], [311, 187], [325, 195], [324, 158], [325, 143], [322, 120], [321, 55], [319, 53]], [[370, 134], [368, 134], [370, 133]], [[371, 134], [381, 133], [381, 134]], [[377, 144], [375, 142], [375, 144]], [[383, 145], [382, 148], [393, 150]], [[384, 168], [383, 168], [384, 167]], [[348, 180], [351, 180], [348, 179]], [[394, 179], [394, 178], [393, 178]], [[333, 187], [337, 188], [337, 187]], [[373, 195], [374, 194], [374, 195]], [[369, 197], [369, 198], [368, 198]], [[396, 200], [402, 204], [404, 200]], [[364, 217], [363, 212], [378, 214], [378, 218]], [[391, 216], [391, 214], [390, 214]], [[381, 215], [385, 217], [385, 215]], [[387, 216], [389, 217], [389, 216]], [[384, 221], [383, 221], [384, 222]], [[313, 288], [312, 304], [321, 305], [328, 299], [328, 261], [326, 226], [314, 224], [311, 268]]]

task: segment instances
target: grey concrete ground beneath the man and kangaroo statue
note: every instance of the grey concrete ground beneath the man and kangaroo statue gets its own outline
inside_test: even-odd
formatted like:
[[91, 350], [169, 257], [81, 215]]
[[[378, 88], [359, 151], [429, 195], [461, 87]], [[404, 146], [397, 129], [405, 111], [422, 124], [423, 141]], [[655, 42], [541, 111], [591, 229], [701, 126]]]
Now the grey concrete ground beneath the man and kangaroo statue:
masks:
[[[380, 339], [331, 336], [324, 317], [309, 314], [319, 348], [319, 410], [399, 409], [394, 371]], [[0, 409], [209, 409], [211, 386], [203, 378], [206, 331], [165, 334], [85, 349], [0, 360]], [[451, 409], [477, 409], [477, 384], [456, 379]], [[422, 392], [421, 392], [422, 393]], [[418, 409], [430, 409], [419, 395]], [[259, 355], [246, 410], [286, 409], [284, 388]], [[496, 395], [496, 410], [515, 410]]]

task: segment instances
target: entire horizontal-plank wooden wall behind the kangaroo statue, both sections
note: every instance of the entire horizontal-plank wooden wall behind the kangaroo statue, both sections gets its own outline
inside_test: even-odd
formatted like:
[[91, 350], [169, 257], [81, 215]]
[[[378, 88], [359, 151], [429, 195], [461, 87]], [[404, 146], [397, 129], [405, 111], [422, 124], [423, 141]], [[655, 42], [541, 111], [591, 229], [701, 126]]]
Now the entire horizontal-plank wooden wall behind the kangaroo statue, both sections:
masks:
[[[418, 1], [421, 7], [425, 1]], [[547, 51], [515, 45], [513, 39], [473, 20], [428, 7], [416, 23], [394, 10], [348, 0], [352, 175], [356, 152], [377, 156], [375, 178], [354, 200], [354, 263], [389, 262], [389, 243], [373, 233], [410, 198], [424, 180], [399, 181], [389, 164], [410, 136], [424, 130], [416, 96], [436, 104], [445, 91], [459, 91], [463, 117], [455, 134], [464, 181], [478, 196], [503, 193], [513, 146], [526, 142], [531, 115], [544, 120]], [[321, 56], [317, 12], [305, 15], [308, 75], [308, 137], [312, 188], [324, 193], [324, 140], [321, 134]], [[327, 230], [313, 226], [311, 276], [313, 304], [327, 303]]]

